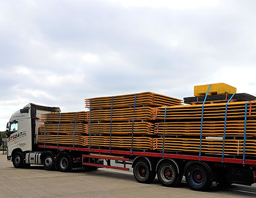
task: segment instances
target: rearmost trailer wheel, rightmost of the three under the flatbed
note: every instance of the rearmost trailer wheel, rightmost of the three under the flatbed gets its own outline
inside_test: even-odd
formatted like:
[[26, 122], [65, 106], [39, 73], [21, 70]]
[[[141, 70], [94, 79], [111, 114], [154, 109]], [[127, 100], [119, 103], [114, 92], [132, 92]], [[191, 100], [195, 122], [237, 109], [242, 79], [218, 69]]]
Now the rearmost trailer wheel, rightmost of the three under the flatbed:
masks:
[[206, 191], [210, 188], [210, 172], [203, 165], [190, 165], [185, 172], [185, 178], [192, 190]]

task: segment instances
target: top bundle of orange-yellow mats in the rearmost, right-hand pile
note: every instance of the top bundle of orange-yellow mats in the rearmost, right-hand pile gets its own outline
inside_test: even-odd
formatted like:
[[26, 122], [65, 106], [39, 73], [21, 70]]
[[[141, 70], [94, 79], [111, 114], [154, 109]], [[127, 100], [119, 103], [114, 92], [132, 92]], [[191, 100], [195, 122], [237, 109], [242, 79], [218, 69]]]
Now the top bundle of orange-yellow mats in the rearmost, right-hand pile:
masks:
[[[245, 118], [246, 102], [228, 104], [227, 118]], [[225, 118], [226, 103], [204, 105], [205, 119]], [[256, 101], [248, 103], [248, 117], [256, 117]], [[166, 109], [166, 119], [201, 119], [202, 105], [171, 106]], [[154, 108], [153, 119], [165, 119], [165, 107]]]

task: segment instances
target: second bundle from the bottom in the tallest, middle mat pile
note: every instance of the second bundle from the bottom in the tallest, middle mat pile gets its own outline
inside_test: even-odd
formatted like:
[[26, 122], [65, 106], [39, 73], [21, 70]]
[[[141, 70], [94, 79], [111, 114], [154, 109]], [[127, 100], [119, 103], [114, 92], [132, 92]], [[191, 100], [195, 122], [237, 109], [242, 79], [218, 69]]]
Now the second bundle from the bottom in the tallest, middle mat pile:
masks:
[[[89, 124], [86, 124], [86, 133], [89, 133]], [[154, 132], [154, 124], [149, 122], [134, 122], [134, 134], [150, 134]], [[110, 134], [110, 123], [91, 123], [91, 133]], [[111, 134], [131, 134], [132, 122], [114, 122], [111, 125]]]

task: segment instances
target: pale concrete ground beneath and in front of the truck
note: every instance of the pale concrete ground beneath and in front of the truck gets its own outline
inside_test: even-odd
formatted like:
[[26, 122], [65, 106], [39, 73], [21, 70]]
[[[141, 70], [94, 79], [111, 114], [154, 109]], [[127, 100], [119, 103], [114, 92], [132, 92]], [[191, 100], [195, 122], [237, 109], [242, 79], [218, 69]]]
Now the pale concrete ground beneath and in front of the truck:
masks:
[[256, 185], [231, 185], [227, 190], [196, 192], [185, 182], [179, 188], [136, 182], [129, 171], [46, 171], [42, 166], [16, 169], [0, 154], [0, 197], [256, 197]]

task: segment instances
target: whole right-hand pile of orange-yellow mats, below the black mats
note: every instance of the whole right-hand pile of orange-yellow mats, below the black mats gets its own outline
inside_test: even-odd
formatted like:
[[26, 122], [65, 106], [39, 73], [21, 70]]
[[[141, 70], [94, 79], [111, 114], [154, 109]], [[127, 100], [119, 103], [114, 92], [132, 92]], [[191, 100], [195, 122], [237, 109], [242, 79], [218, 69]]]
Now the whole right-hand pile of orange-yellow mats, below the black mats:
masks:
[[205, 104], [203, 122], [202, 106], [199, 104], [154, 108], [155, 134], [158, 134], [159, 138], [153, 140], [153, 149], [162, 150], [164, 144], [165, 151], [200, 152], [202, 123], [202, 153], [222, 154], [224, 145], [224, 154], [241, 155], [243, 139], [246, 138], [245, 154], [256, 155], [255, 101], [230, 102], [227, 105], [227, 114], [226, 103]]

